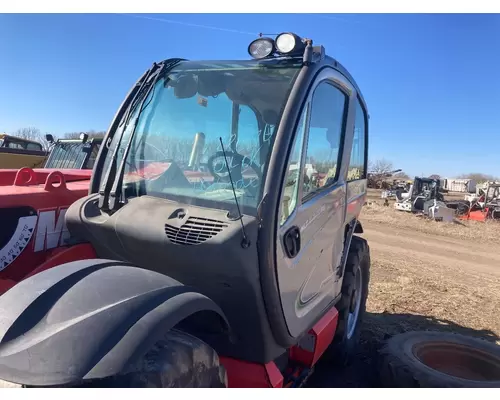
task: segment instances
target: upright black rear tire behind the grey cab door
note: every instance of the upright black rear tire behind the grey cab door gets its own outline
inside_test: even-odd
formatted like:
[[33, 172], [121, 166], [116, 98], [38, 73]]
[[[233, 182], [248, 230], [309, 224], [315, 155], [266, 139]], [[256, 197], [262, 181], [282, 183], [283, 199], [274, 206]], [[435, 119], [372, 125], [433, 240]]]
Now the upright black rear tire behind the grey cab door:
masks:
[[[359, 312], [352, 332], [348, 331], [348, 316], [351, 310], [351, 299], [355, 295], [356, 275], [361, 274], [361, 297]], [[342, 297], [337, 304], [339, 320], [335, 337], [328, 350], [328, 357], [337, 365], [349, 364], [356, 354], [361, 334], [361, 323], [366, 311], [368, 286], [370, 283], [370, 248], [368, 242], [353, 236], [347, 255], [344, 277], [342, 281]]]

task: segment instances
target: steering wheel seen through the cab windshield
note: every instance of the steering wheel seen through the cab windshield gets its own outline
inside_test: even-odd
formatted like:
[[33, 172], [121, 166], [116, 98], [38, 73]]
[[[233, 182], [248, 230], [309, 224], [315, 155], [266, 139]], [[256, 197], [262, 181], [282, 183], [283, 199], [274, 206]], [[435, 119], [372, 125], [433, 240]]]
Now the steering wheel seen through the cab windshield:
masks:
[[[250, 161], [246, 156], [243, 156], [232, 151], [226, 151], [225, 156], [227, 163], [229, 164], [229, 170], [231, 171], [231, 177], [233, 178], [233, 183], [236, 186], [238, 181], [243, 180], [243, 166], [249, 166], [257, 174], [258, 179], [262, 178], [262, 173], [260, 167]], [[207, 161], [207, 167], [210, 174], [220, 182], [230, 182], [228, 168], [226, 165], [226, 160], [224, 159], [224, 152], [218, 151], [213, 156], [211, 156]]]

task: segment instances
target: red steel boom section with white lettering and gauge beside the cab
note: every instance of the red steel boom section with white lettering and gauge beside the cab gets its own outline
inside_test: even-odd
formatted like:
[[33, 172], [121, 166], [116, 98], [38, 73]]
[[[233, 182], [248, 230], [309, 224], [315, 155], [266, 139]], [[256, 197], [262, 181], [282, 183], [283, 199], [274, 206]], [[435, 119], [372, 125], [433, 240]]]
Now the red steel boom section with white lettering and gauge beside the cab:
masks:
[[[10, 240], [0, 247], [0, 294], [64, 245], [64, 214], [73, 202], [88, 194], [91, 174], [89, 170], [0, 170], [0, 209], [7, 213], [21, 207], [32, 209], [15, 221], [17, 227], [0, 226], [15, 228], [9, 232]], [[70, 258], [62, 262], [72, 261]]]

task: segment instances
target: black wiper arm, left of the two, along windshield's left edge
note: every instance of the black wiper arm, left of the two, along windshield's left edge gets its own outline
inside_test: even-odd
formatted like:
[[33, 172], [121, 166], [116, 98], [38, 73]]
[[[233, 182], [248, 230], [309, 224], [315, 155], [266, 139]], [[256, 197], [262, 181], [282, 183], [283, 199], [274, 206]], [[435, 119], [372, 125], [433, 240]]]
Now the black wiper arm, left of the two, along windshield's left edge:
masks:
[[111, 162], [109, 163], [108, 170], [106, 172], [106, 176], [102, 180], [101, 187], [99, 188], [99, 208], [104, 209], [104, 210], [109, 210], [108, 208], [108, 202], [109, 202], [109, 192], [111, 190], [111, 185], [115, 180], [116, 176], [116, 160], [118, 158], [118, 151], [120, 149], [120, 143], [122, 141], [123, 135], [125, 134], [125, 131], [127, 130], [128, 123], [129, 123], [129, 118], [130, 115], [132, 114], [132, 111], [135, 109], [135, 106], [137, 104], [138, 99], [141, 97], [141, 93], [143, 93], [144, 88], [147, 85], [147, 82], [153, 72], [156, 70], [157, 64], [154, 63], [153, 66], [145, 73], [144, 78], [142, 79], [142, 82], [139, 86], [139, 89], [137, 90], [135, 96], [132, 98], [130, 105], [127, 108], [126, 114], [123, 116], [122, 121], [118, 125], [118, 127], [122, 126], [120, 132], [118, 133], [118, 140], [116, 142], [115, 149], [113, 150], [113, 155], [111, 157]]

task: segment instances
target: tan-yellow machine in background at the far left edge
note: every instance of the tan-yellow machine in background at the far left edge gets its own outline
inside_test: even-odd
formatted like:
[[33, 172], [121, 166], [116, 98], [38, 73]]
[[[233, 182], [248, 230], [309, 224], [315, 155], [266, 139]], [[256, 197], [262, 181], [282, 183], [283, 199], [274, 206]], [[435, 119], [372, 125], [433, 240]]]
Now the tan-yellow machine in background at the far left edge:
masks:
[[0, 134], [0, 169], [42, 167], [46, 157], [47, 152], [40, 143]]

